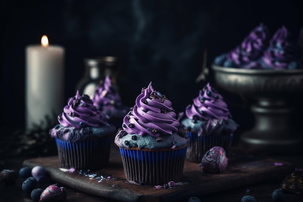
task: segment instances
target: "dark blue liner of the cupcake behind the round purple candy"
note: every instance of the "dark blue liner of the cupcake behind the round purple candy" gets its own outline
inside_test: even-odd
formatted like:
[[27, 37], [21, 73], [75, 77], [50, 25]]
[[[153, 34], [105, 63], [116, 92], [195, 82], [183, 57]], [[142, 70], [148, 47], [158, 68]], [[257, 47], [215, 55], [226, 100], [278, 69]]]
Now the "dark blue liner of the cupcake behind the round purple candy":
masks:
[[190, 139], [186, 160], [201, 163], [203, 155], [214, 146], [223, 147], [226, 154], [229, 154], [233, 135], [210, 134], [207, 136], [197, 136], [195, 133], [187, 132]]

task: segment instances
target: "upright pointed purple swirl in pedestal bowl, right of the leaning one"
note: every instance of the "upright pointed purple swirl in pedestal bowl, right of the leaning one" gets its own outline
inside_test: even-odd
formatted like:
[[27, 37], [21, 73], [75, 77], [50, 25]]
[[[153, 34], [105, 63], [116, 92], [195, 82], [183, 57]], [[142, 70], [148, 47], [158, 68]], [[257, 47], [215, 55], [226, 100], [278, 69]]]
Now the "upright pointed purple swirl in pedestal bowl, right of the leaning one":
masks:
[[270, 46], [265, 50], [259, 62], [262, 68], [290, 69], [291, 62], [301, 66], [298, 58], [291, 34], [285, 26], [282, 26], [273, 35]]

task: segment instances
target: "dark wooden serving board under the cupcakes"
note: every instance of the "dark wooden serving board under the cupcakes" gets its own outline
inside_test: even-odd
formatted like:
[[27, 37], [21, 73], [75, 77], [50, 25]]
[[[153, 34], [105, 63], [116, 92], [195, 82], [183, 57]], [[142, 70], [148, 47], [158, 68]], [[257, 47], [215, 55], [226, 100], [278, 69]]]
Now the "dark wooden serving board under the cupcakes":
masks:
[[[275, 162], [283, 165], [275, 166]], [[169, 188], [156, 188], [131, 184], [125, 180], [120, 152], [116, 145], [111, 147], [108, 167], [98, 171], [61, 171], [58, 156], [28, 159], [23, 162], [23, 166], [43, 166], [58, 183], [88, 194], [123, 202], [181, 202], [193, 196], [198, 197], [273, 178], [282, 180], [294, 169], [293, 164], [289, 162], [232, 156], [229, 157], [226, 171], [210, 174], [203, 173], [197, 163], [185, 161], [182, 182]], [[189, 178], [192, 182], [188, 182]]]

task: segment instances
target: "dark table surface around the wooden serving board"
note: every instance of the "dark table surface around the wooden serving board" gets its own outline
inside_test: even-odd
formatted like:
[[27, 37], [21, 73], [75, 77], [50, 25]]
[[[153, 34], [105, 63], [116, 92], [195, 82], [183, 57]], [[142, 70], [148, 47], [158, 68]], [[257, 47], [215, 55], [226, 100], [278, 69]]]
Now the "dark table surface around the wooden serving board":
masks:
[[[238, 151], [234, 148], [234, 151]], [[247, 154], [244, 154], [247, 155]], [[249, 154], [248, 154], [249, 155]], [[251, 155], [250, 155], [251, 156]], [[37, 156], [38, 157], [38, 156]], [[292, 162], [296, 168], [303, 168], [303, 155], [300, 156], [274, 156], [275, 159], [281, 161]], [[22, 163], [28, 157], [10, 157], [0, 159], [2, 169], [10, 169], [18, 172], [22, 167]], [[240, 202], [244, 195], [252, 195], [256, 198], [257, 202], [272, 202], [271, 193], [274, 189], [280, 188], [283, 178], [271, 179], [261, 183], [255, 183], [247, 186], [240, 186], [225, 191], [218, 191], [208, 195], [195, 196], [201, 202]], [[30, 195], [23, 192], [21, 186], [24, 179], [18, 178], [13, 185], [0, 184], [0, 202], [32, 202]], [[52, 179], [40, 183], [38, 186], [45, 188], [51, 184], [55, 184]], [[64, 186], [67, 190], [66, 202], [114, 202], [106, 198], [86, 194], [66, 185], [58, 183], [58, 186]], [[302, 202], [303, 197], [299, 194], [292, 192], [284, 192], [285, 202]], [[193, 196], [194, 197], [194, 196]], [[175, 201], [174, 202], [178, 202]]]

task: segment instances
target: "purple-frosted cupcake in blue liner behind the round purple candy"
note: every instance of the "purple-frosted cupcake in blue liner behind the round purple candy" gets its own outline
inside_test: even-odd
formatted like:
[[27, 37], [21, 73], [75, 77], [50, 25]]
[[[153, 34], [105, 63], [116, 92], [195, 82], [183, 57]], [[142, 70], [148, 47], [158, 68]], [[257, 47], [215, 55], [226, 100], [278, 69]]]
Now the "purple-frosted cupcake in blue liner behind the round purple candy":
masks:
[[228, 154], [237, 124], [231, 119], [222, 95], [209, 83], [186, 107], [185, 113], [179, 114], [179, 121], [190, 139], [187, 160], [200, 163], [203, 155], [214, 146], [223, 147]]

